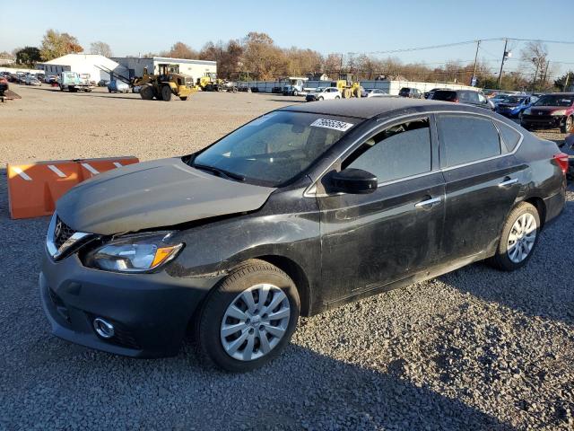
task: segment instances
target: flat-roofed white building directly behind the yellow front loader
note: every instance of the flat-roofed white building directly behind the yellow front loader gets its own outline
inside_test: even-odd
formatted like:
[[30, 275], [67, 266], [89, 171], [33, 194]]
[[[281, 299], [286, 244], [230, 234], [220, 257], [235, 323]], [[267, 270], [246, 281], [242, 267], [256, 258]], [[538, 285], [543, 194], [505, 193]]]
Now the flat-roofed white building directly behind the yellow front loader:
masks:
[[170, 57], [113, 57], [113, 59], [126, 67], [130, 78], [143, 76], [143, 68], [147, 68], [149, 74], [157, 75], [163, 65], [168, 65], [170, 72], [191, 76], [194, 83], [197, 78], [201, 78], [206, 73], [217, 74], [217, 62], [215, 61]]

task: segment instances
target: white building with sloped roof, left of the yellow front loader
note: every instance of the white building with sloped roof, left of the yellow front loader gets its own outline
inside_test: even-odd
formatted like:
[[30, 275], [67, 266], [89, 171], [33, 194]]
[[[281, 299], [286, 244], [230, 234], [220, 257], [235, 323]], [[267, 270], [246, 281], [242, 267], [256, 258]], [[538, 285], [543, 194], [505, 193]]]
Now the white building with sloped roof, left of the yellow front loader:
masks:
[[119, 75], [127, 75], [125, 67], [118, 65], [114, 60], [99, 54], [67, 54], [53, 60], [39, 63], [37, 68], [44, 70], [45, 75], [57, 75], [63, 71], [76, 72], [90, 75], [90, 81], [96, 83], [100, 79], [109, 79], [111, 70]]

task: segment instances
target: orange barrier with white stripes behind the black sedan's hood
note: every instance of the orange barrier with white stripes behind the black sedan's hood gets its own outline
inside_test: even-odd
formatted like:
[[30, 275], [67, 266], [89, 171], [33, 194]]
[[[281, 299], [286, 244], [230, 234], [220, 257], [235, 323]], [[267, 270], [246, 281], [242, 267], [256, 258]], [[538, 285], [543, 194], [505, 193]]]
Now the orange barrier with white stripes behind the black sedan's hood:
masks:
[[138, 163], [136, 157], [59, 160], [8, 164], [8, 202], [12, 218], [50, 216], [66, 191], [100, 172]]

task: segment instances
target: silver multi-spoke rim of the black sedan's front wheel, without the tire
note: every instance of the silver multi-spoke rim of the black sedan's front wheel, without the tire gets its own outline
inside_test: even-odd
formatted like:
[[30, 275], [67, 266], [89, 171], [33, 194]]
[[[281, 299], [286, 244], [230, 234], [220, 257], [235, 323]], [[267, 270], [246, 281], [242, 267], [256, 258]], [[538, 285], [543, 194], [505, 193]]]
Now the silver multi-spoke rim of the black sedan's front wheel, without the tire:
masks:
[[230, 303], [220, 336], [225, 352], [239, 361], [267, 355], [283, 339], [291, 307], [283, 290], [270, 284], [251, 286]]

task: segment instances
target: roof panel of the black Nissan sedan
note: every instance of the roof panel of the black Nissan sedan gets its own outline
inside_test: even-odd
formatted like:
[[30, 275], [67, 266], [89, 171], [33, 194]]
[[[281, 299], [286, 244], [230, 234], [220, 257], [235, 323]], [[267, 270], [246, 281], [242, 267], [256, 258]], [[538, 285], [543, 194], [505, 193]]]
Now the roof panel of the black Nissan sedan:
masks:
[[[425, 108], [429, 111], [441, 109], [452, 110], [453, 108], [461, 108], [463, 106], [464, 105], [453, 104], [448, 101], [381, 97], [300, 103], [297, 105], [286, 106], [279, 110], [353, 117], [357, 119], [372, 119], [378, 115], [396, 110], [425, 110]], [[470, 110], [475, 111], [480, 110], [480, 108], [471, 108]]]

